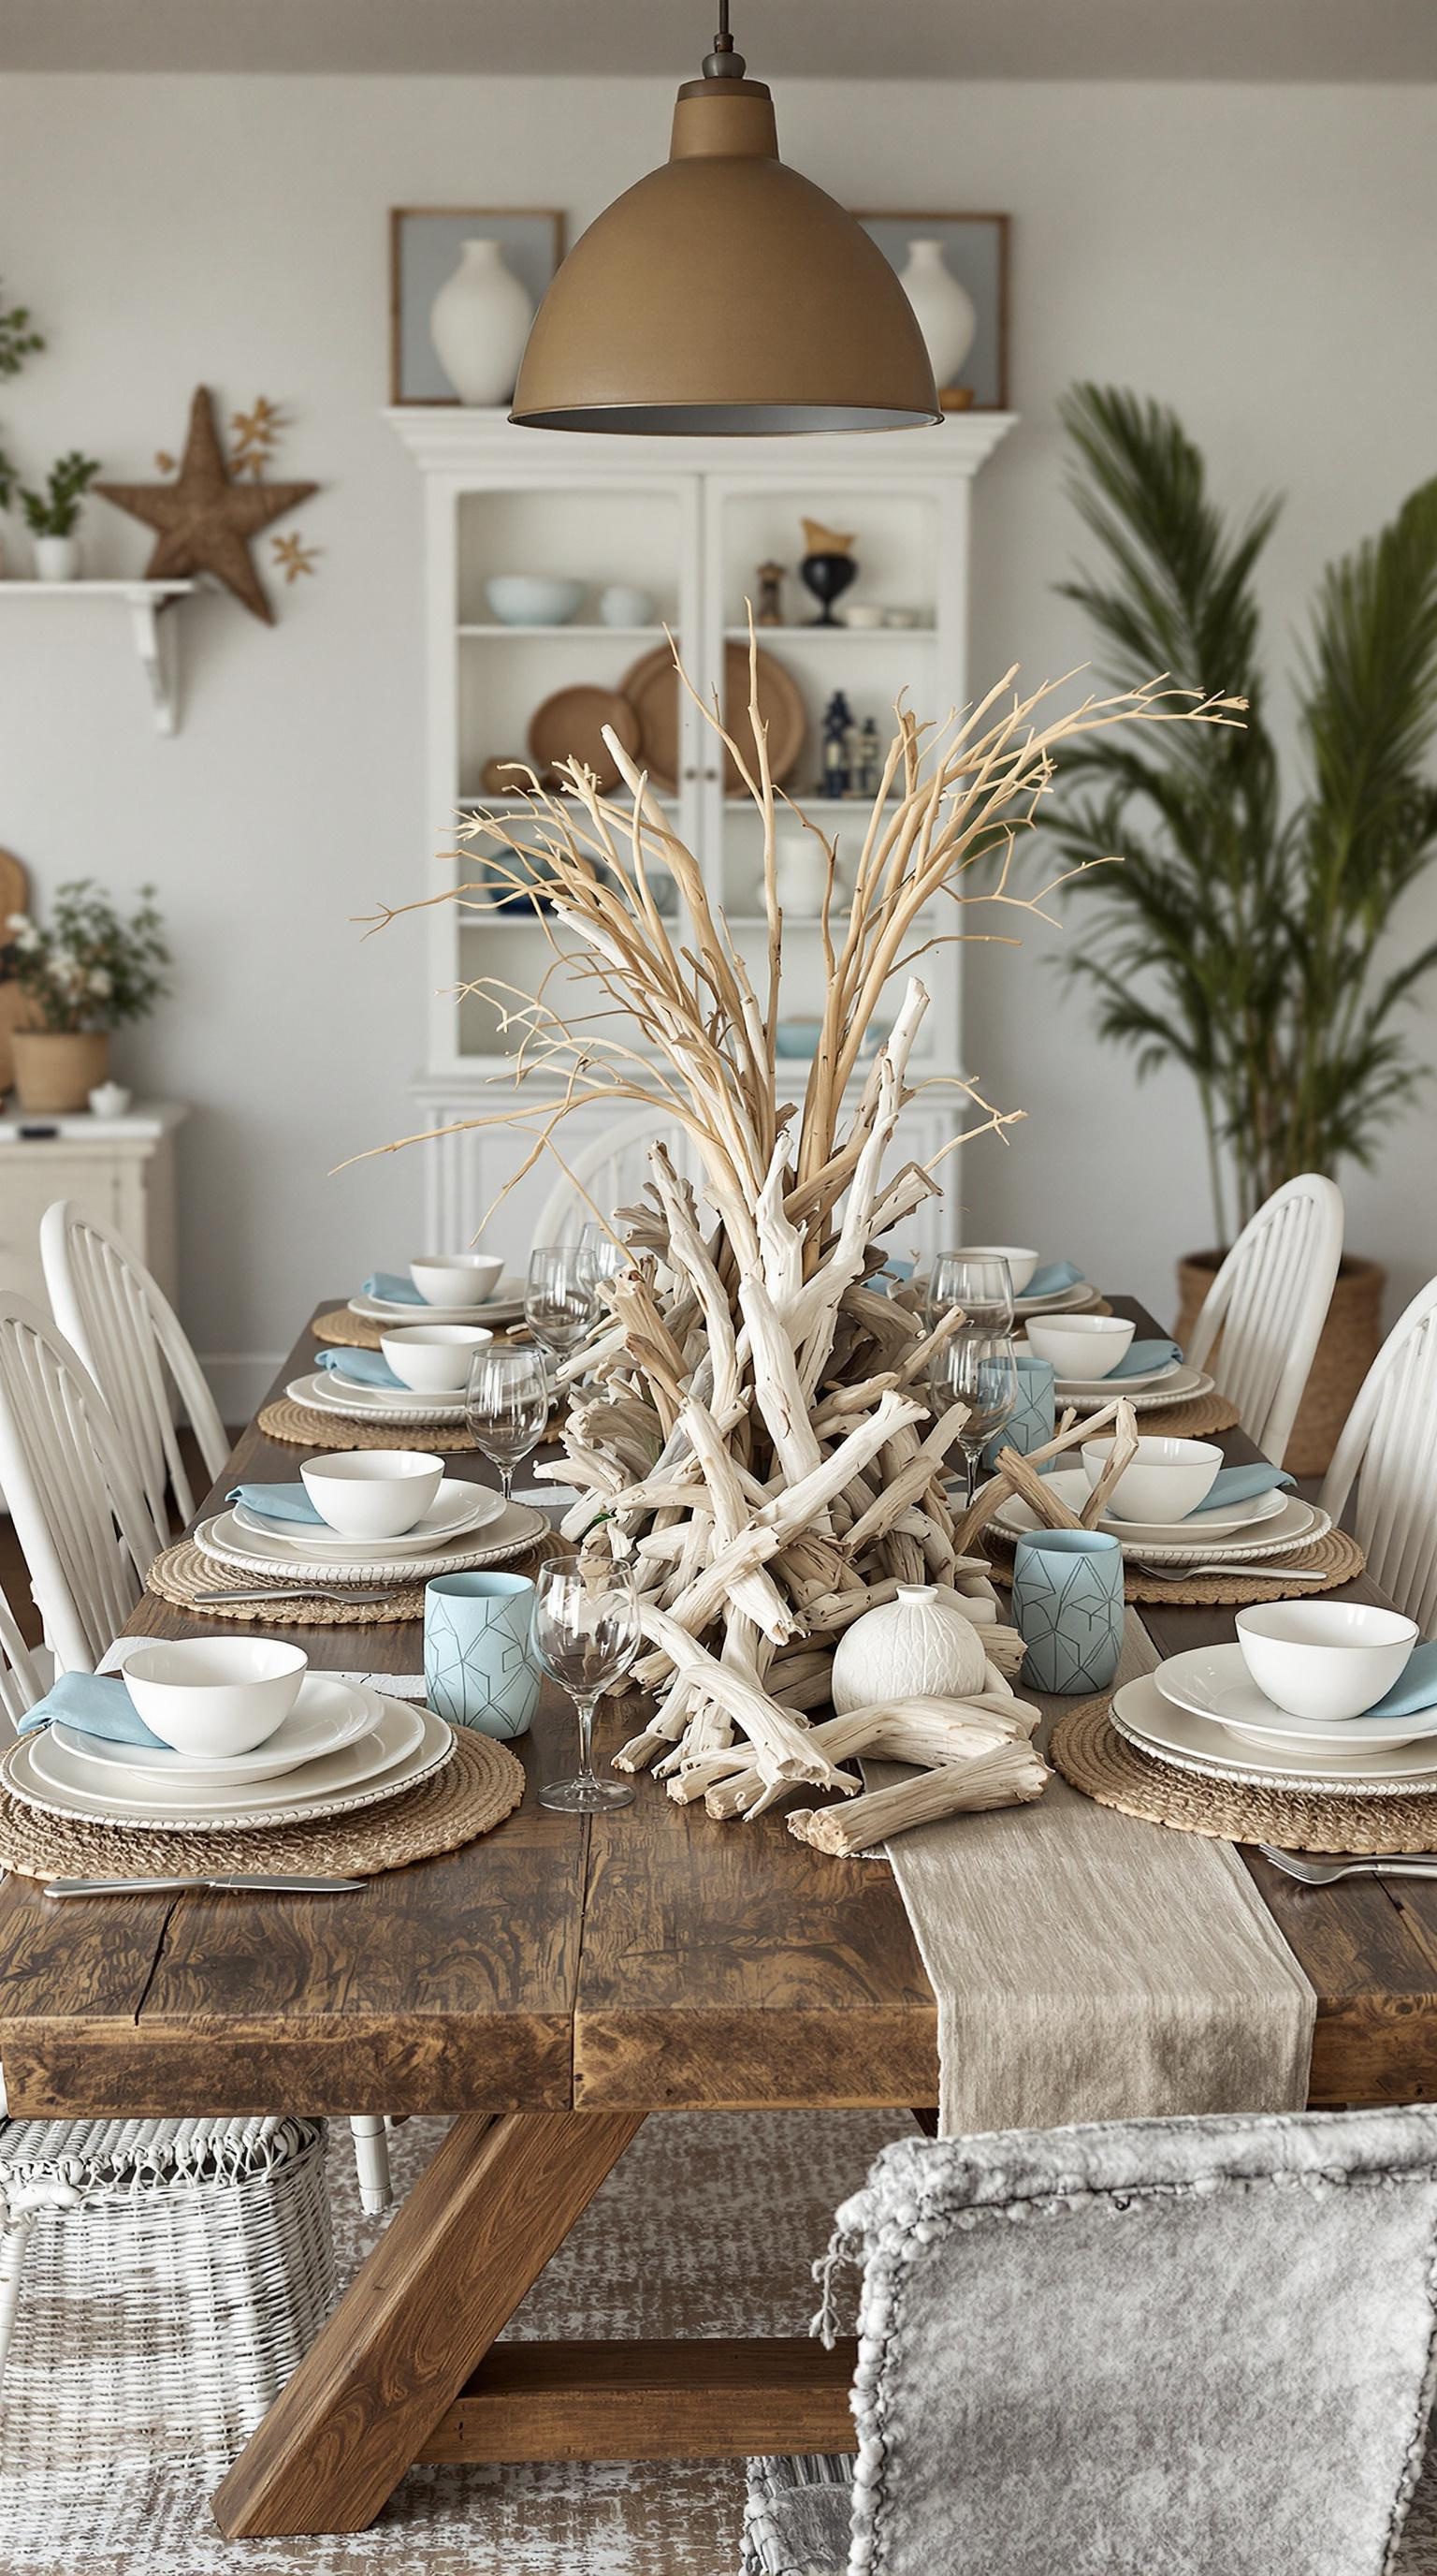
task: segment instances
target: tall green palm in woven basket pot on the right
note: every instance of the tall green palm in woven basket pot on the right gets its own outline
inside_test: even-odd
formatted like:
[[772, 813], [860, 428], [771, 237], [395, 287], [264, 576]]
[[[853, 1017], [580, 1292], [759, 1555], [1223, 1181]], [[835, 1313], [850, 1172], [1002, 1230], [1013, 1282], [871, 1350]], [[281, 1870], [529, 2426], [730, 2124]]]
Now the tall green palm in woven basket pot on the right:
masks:
[[[1298, 649], [1295, 778], [1267, 719], [1257, 567], [1280, 502], [1228, 515], [1167, 407], [1079, 384], [1071, 497], [1105, 564], [1061, 585], [1115, 683], [1167, 670], [1246, 698], [1244, 726], [1092, 737], [1056, 832], [1082, 866], [1069, 971], [1138, 1074], [1198, 1087], [1218, 1244], [1295, 1172], [1373, 1167], [1432, 1066], [1404, 1010], [1437, 966], [1385, 945], [1437, 853], [1437, 482], [1319, 580]], [[1087, 871], [1120, 853], [1120, 866]], [[1179, 1334], [1221, 1249], [1179, 1262]], [[1347, 1257], [1288, 1466], [1326, 1463], [1378, 1347], [1383, 1270]]]

